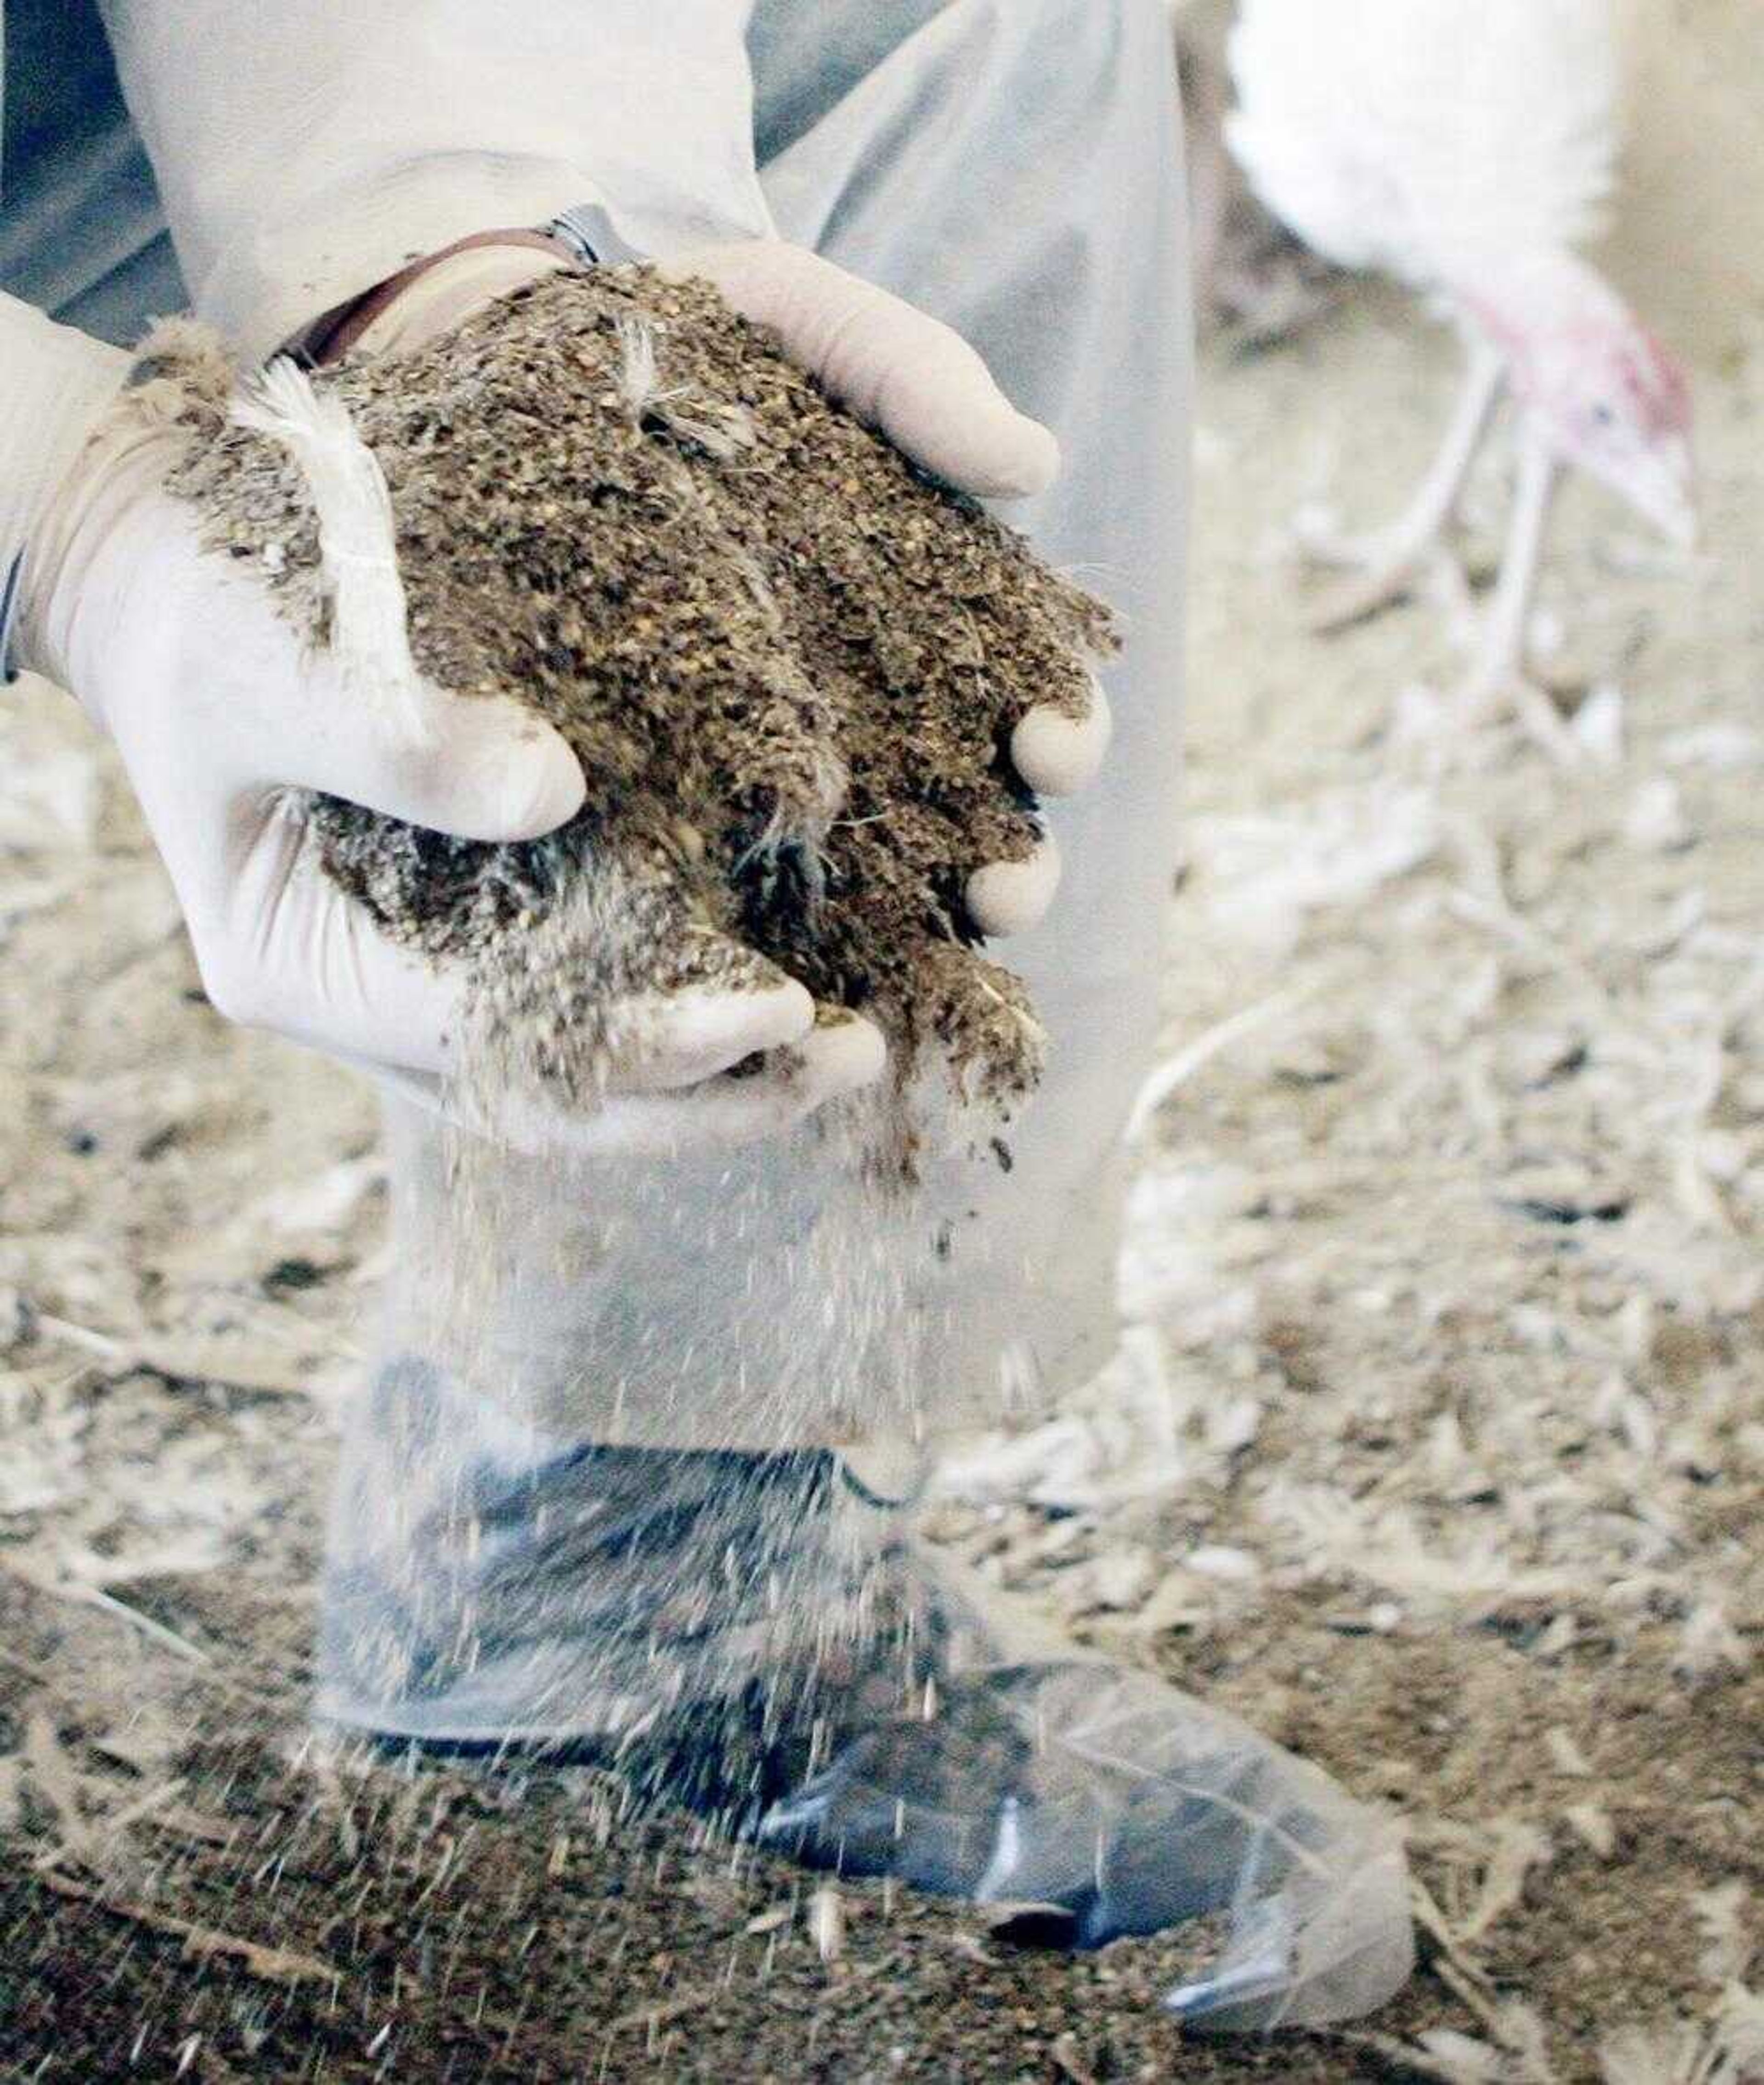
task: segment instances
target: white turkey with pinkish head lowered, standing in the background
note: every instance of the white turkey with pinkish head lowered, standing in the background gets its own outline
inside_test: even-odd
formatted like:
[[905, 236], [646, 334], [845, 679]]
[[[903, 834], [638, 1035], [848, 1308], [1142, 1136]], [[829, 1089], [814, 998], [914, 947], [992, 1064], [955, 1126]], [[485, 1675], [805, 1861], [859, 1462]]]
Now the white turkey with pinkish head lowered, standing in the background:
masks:
[[1330, 261], [1443, 304], [1468, 350], [1410, 509], [1307, 548], [1364, 567], [1343, 607], [1401, 592], [1510, 392], [1518, 486], [1466, 701], [1514, 698], [1551, 730], [1526, 630], [1560, 473], [1591, 471], [1672, 542], [1695, 540], [1685, 377], [1585, 259], [1620, 150], [1612, 0], [1243, 0], [1230, 73], [1230, 148], [1268, 208]]

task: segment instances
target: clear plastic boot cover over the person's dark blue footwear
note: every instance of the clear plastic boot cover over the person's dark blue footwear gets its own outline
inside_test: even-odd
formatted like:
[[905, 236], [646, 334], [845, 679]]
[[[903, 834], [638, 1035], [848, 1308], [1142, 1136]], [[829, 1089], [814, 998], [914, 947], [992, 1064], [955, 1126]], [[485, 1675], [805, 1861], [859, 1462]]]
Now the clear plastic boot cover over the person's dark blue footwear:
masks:
[[1197, 2027], [1345, 2018], [1410, 1968], [1391, 1820], [1013, 1614], [832, 1449], [571, 1443], [386, 1362], [344, 1453], [319, 1710], [594, 1760], [809, 1866], [1047, 1906], [1078, 1947], [1211, 1920], [1216, 1966], [1170, 1993]]

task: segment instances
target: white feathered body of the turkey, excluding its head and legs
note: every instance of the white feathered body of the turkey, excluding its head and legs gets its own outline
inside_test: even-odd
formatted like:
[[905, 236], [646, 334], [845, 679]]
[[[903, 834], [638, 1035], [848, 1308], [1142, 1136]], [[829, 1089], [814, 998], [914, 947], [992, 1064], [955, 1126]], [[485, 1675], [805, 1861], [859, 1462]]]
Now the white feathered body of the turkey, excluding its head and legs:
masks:
[[1430, 288], [1603, 227], [1612, 0], [1243, 0], [1230, 69], [1251, 186], [1343, 267]]

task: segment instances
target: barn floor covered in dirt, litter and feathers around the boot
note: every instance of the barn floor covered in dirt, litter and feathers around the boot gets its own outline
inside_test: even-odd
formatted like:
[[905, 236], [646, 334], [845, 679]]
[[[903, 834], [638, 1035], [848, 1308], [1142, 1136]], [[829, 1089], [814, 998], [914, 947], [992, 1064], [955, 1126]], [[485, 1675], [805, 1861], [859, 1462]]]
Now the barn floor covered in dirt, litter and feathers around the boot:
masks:
[[586, 1776], [321, 1758], [298, 1699], [373, 1113], [211, 1013], [115, 765], [23, 684], [0, 2077], [1764, 2079], [1764, 338], [1699, 379], [1704, 553], [1564, 509], [1572, 765], [1451, 719], [1447, 607], [1303, 630], [1287, 519], [1380, 517], [1449, 386], [1380, 298], [1207, 357], [1130, 1332], [940, 1510], [1001, 1583], [1405, 1814], [1412, 1989], [1355, 2033], [1182, 2041], [1155, 1947], [834, 1904], [615, 1824]]

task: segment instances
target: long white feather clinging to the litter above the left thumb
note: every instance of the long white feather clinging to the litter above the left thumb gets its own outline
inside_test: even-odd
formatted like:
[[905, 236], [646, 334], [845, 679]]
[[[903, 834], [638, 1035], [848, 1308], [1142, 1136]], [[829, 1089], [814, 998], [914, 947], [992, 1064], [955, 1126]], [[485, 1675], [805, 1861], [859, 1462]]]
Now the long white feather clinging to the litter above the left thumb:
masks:
[[379, 459], [342, 400], [321, 396], [288, 357], [256, 377], [234, 404], [234, 419], [281, 442], [307, 480], [319, 517], [321, 586], [332, 605], [332, 655], [344, 684], [423, 740], [430, 705], [411, 657], [392, 494]]

